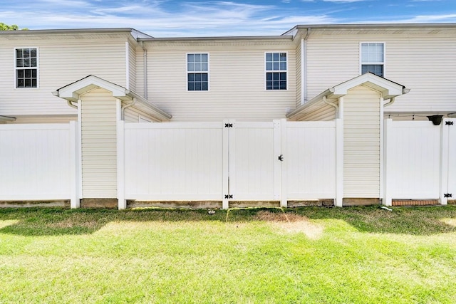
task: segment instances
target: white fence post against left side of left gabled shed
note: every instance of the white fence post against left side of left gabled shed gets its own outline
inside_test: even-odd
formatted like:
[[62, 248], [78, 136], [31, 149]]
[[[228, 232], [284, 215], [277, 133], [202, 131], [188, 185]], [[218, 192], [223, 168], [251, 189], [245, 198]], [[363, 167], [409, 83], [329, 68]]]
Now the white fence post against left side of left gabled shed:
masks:
[[81, 153], [78, 137], [78, 122], [70, 122], [70, 174], [71, 174], [71, 209], [81, 206], [79, 201], [79, 154]]

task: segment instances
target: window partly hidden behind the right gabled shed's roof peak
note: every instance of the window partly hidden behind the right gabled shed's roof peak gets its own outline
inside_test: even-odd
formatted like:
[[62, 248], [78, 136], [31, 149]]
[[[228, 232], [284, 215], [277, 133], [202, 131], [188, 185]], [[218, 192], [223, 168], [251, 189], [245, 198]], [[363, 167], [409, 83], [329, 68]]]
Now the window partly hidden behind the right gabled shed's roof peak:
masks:
[[384, 77], [385, 43], [361, 43], [361, 74]]

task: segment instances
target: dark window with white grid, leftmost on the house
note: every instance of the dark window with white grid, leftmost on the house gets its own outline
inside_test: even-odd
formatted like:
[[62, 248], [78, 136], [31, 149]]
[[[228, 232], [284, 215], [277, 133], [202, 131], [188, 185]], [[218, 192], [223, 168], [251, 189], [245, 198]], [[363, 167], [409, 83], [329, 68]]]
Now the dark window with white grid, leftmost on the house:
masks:
[[37, 48], [15, 48], [16, 88], [38, 88]]

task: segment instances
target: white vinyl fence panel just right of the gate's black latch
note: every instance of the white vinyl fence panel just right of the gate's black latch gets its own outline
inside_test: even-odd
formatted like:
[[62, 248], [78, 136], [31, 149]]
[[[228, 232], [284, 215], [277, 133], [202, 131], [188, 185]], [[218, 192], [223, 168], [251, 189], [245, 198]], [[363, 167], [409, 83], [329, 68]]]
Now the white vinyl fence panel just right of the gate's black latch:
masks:
[[336, 123], [287, 122], [289, 200], [336, 197]]

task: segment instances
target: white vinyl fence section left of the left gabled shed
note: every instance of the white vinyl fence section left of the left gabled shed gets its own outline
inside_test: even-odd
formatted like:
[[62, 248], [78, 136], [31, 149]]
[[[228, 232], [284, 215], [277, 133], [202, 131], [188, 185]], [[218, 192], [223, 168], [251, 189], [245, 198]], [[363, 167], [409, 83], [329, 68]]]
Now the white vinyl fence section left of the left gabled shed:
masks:
[[78, 206], [76, 122], [0, 125], [0, 200], [71, 199]]

